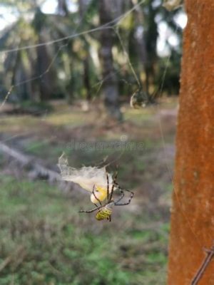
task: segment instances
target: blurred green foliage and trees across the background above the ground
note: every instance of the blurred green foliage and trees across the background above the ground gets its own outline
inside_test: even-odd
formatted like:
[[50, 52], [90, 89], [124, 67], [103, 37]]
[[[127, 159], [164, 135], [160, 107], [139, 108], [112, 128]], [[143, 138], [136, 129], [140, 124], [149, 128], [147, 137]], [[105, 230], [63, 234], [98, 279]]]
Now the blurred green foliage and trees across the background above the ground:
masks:
[[[1, 53], [0, 98], [4, 99], [11, 86], [15, 88], [9, 100], [15, 102], [66, 98], [72, 103], [76, 98], [90, 100], [100, 95], [100, 32], [75, 36], [81, 31], [99, 27], [98, 1], [73, 1], [76, 10], [71, 11], [67, 1], [58, 0], [55, 14], [44, 14], [44, 2], [1, 1], [1, 7], [10, 9], [16, 20], [0, 33], [1, 50], [14, 48], [14, 51]], [[116, 15], [126, 13], [134, 4], [136, 1], [123, 1]], [[167, 61], [167, 57], [157, 54], [161, 23], [173, 31], [179, 42], [178, 46], [166, 43], [171, 56], [162, 91], [169, 95], [178, 93], [182, 31], [175, 23], [175, 16], [179, 13], [180, 9], [166, 11], [161, 1], [147, 0], [118, 24], [115, 23], [113, 29], [118, 31], [123, 44], [122, 47], [114, 33], [113, 58], [121, 97], [126, 98], [139, 87], [123, 48], [128, 51], [144, 91], [153, 93], [160, 87]], [[69, 36], [71, 38], [66, 39]], [[57, 41], [58, 38], [65, 39]], [[56, 43], [48, 44], [49, 41]], [[29, 48], [25, 48], [27, 46]]]

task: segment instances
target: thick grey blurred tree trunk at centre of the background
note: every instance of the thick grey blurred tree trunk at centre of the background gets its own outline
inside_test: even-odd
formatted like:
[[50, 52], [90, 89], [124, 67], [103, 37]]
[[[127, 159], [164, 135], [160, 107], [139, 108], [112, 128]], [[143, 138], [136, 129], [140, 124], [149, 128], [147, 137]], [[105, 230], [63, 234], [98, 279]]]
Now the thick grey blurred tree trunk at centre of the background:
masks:
[[[113, 20], [113, 12], [115, 12], [115, 1], [100, 0], [99, 14], [101, 25], [109, 23]], [[101, 30], [100, 38], [101, 48], [99, 56], [101, 58], [101, 67], [103, 73], [103, 95], [108, 113], [117, 120], [121, 119], [121, 112], [118, 105], [118, 82], [116, 71], [113, 68], [113, 30]]]

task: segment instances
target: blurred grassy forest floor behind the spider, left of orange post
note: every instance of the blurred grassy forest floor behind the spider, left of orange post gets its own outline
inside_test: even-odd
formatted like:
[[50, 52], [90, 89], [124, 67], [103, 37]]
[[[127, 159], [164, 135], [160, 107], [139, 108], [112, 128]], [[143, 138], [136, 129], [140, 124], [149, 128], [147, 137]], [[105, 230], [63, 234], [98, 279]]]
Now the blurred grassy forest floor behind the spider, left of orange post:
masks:
[[62, 152], [73, 167], [107, 157], [135, 195], [113, 209], [111, 223], [98, 222], [78, 213], [93, 207], [87, 192], [32, 180], [0, 152], [0, 284], [165, 284], [177, 99], [142, 110], [124, 105], [123, 123], [107, 120], [97, 104], [52, 105], [41, 116], [6, 106], [0, 141], [56, 171]]

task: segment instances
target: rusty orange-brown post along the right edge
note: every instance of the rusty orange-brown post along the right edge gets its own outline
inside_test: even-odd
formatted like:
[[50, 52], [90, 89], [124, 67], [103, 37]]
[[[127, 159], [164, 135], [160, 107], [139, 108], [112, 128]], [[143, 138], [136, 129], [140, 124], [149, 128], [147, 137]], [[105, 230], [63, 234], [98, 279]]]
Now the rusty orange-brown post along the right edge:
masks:
[[[191, 284], [214, 239], [214, 1], [186, 0], [168, 284]], [[198, 282], [214, 284], [214, 261]]]

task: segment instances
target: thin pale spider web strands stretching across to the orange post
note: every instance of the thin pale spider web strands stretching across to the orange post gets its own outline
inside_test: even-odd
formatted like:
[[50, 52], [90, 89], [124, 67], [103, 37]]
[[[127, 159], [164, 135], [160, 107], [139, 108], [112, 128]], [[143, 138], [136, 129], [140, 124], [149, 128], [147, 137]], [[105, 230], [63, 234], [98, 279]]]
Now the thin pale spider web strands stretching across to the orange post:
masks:
[[[72, 38], [77, 38], [79, 36], [84, 36], [84, 35], [87, 35], [89, 33], [94, 33], [96, 31], [102, 31], [103, 29], [111, 29], [111, 30], [113, 30], [114, 33], [116, 34], [116, 36], [118, 37], [118, 41], [121, 44], [122, 51], [124, 53], [124, 56], [126, 57], [126, 64], [128, 64], [129, 68], [131, 69], [131, 73], [133, 74], [133, 77], [135, 78], [137, 85], [139, 87], [141, 87], [141, 83], [140, 83], [139, 78], [138, 78], [138, 76], [136, 74], [136, 71], [135, 71], [135, 68], [133, 66], [133, 63], [131, 63], [131, 60], [130, 60], [130, 58], [128, 56], [128, 52], [126, 51], [126, 46], [124, 45], [123, 39], [121, 38], [121, 34], [118, 31], [118, 25], [121, 23], [121, 21], [123, 21], [123, 19], [126, 19], [126, 17], [128, 15], [130, 15], [133, 11], [135, 11], [139, 6], [143, 5], [145, 3], [145, 1], [146, 0], [142, 0], [138, 4], [135, 4], [131, 9], [126, 11], [124, 14], [121, 14], [121, 16], [118, 16], [116, 19], [113, 19], [112, 21], [108, 22], [107, 24], [104, 24], [102, 26], [98, 26], [97, 28], [93, 28], [93, 29], [90, 29], [90, 30], [78, 32], [78, 29], [81, 26], [81, 22], [83, 21], [84, 17], [87, 14], [87, 9], [86, 9], [86, 11], [83, 14], [83, 16], [81, 17], [79, 23], [76, 25], [75, 31], [73, 31], [73, 33], [71, 35], [69, 35], [69, 36], [58, 38], [58, 39], [53, 40], [53, 41], [47, 41], [45, 43], [38, 43], [38, 44], [30, 45], [30, 46], [23, 46], [23, 47], [20, 47], [20, 48], [10, 48], [10, 49], [6, 49], [4, 51], [0, 51], [0, 54], [13, 53], [13, 52], [21, 51], [21, 50], [37, 48], [37, 47], [40, 47], [40, 46], [50, 46], [50, 45], [54, 45], [56, 43], [62, 43], [64, 41], [67, 41], [67, 43], [62, 43], [61, 46], [59, 46], [58, 50], [56, 51], [56, 53], [54, 54], [54, 57], [51, 60], [51, 63], [49, 63], [49, 66], [46, 68], [46, 70], [43, 73], [41, 73], [39, 76], [35, 76], [35, 77], [29, 78], [29, 79], [27, 79], [25, 81], [20, 81], [19, 83], [11, 85], [11, 87], [8, 90], [8, 92], [4, 96], [4, 100], [2, 101], [2, 103], [0, 105], [0, 110], [4, 107], [4, 105], [7, 102], [7, 100], [9, 100], [9, 96], [11, 95], [11, 92], [14, 90], [14, 88], [16, 88], [17, 86], [21, 86], [21, 85], [23, 85], [25, 83], [29, 83], [31, 81], [36, 81], [38, 79], [42, 80], [44, 75], [46, 75], [46, 73], [49, 73], [51, 67], [54, 65], [56, 59], [58, 58], [58, 55], [61, 52], [61, 50], [63, 48], [65, 48], [66, 46], [68, 46], [69, 41], [71, 41]], [[163, 91], [163, 84], [165, 82], [165, 76], [166, 76], [166, 73], [167, 73], [167, 70], [168, 70], [169, 62], [170, 62], [170, 55], [168, 56], [167, 61], [165, 63], [165, 70], [164, 70], [164, 73], [163, 73], [163, 77], [161, 79], [159, 90], [157, 91], [160, 94]], [[118, 72], [119, 71], [115, 71], [115, 73], [118, 73]], [[101, 87], [103, 86], [103, 83], [106, 81], [106, 79], [107, 78], [103, 78], [101, 81], [98, 81], [98, 83], [96, 83], [95, 85], [92, 86], [92, 88], [96, 88], [96, 93], [98, 93], [101, 90]], [[122, 79], [122, 80], [125, 81], [125, 83], [129, 84], [125, 79]], [[157, 108], [160, 111], [159, 106]], [[58, 113], [60, 113], [60, 112], [58, 112]], [[45, 118], [44, 118], [44, 120], [45, 120]], [[158, 123], [159, 123], [159, 129], [160, 129], [160, 133], [161, 133], [163, 152], [164, 152], [164, 156], [165, 156], [165, 159], [164, 159], [165, 160], [165, 168], [166, 168], [166, 170], [168, 172], [168, 175], [170, 176], [170, 180], [171, 180], [171, 182], [173, 184], [173, 171], [170, 169], [170, 165], [168, 164], [167, 152], [166, 152], [166, 144], [165, 144], [165, 135], [163, 133], [163, 125], [162, 125], [162, 122], [161, 122], [161, 116], [159, 116], [159, 118], [158, 118]], [[16, 135], [12, 136], [11, 138], [7, 138], [4, 141], [12, 140], [14, 137], [16, 137]], [[41, 142], [41, 145], [43, 143], [44, 142]], [[29, 150], [30, 150], [30, 148], [29, 148]], [[119, 155], [116, 158], [116, 160], [120, 160], [121, 156], [123, 155], [123, 151], [124, 150], [122, 150], [121, 155]], [[183, 216], [185, 217], [185, 221], [188, 223], [188, 227], [190, 227], [191, 232], [193, 232], [193, 229], [192, 229], [192, 227], [190, 225], [190, 222], [188, 220], [188, 214], [185, 213], [185, 210], [183, 209], [183, 206], [182, 206], [182, 204], [180, 202], [180, 198], [178, 196], [178, 193], [175, 192], [175, 196], [176, 196], [176, 199], [178, 199], [178, 204], [180, 204], [180, 211], [183, 213]], [[200, 245], [200, 247], [203, 247], [202, 244], [200, 244], [200, 241], [198, 240], [197, 234], [195, 232], [193, 232], [193, 236], [197, 240], [197, 242]]]

